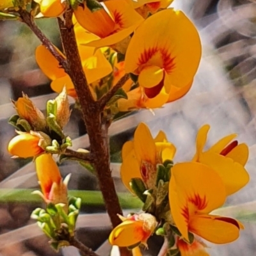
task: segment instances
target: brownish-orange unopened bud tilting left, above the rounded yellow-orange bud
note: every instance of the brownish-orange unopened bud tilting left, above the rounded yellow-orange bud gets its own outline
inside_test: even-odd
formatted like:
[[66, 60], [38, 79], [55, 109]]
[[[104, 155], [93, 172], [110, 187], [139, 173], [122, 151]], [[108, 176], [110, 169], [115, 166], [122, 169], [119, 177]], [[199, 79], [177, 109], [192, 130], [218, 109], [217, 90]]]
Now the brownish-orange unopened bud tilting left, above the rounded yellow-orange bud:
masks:
[[20, 97], [16, 102], [13, 101], [13, 104], [20, 118], [27, 120], [33, 129], [36, 131], [45, 129], [45, 116], [40, 109], [36, 108], [28, 95], [23, 93], [23, 97]]

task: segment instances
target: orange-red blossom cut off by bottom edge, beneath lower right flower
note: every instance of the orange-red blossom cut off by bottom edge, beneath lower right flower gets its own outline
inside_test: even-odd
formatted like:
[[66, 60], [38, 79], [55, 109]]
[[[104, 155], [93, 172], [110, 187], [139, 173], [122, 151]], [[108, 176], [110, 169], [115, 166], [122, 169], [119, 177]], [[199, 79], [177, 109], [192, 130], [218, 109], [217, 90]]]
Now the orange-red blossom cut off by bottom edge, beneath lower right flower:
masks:
[[186, 243], [183, 239], [177, 239], [177, 248], [179, 248], [180, 256], [210, 256], [205, 252], [205, 244], [194, 240], [192, 244]]

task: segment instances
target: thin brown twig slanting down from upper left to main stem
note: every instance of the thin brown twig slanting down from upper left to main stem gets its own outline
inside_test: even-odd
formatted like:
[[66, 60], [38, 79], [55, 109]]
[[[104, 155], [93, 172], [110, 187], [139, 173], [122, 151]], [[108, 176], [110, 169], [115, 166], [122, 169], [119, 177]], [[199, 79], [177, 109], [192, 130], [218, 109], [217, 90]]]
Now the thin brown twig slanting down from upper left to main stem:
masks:
[[20, 20], [24, 22], [38, 37], [42, 44], [51, 52], [51, 54], [59, 61], [63, 68], [67, 68], [67, 61], [61, 54], [56, 50], [56, 47], [52, 42], [42, 33], [42, 31], [36, 26], [33, 16], [26, 10], [19, 10]]

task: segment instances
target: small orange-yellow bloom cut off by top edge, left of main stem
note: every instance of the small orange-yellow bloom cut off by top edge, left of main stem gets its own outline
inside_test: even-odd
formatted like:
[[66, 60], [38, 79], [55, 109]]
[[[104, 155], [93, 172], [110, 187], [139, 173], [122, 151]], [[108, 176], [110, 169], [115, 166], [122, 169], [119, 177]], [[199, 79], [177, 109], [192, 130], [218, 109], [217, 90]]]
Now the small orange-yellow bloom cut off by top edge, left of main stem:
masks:
[[61, 0], [42, 0], [40, 11], [45, 17], [58, 17], [65, 11], [65, 6]]

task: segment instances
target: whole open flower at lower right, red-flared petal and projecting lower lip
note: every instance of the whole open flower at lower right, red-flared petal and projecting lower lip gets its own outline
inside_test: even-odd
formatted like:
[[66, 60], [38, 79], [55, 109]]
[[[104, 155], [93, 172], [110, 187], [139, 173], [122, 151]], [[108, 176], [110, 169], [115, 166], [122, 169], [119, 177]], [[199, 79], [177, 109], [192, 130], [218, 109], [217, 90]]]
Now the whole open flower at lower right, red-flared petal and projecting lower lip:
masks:
[[169, 201], [172, 218], [182, 237], [192, 232], [211, 243], [235, 241], [243, 225], [239, 221], [209, 214], [227, 197], [225, 184], [215, 170], [202, 163], [178, 163], [172, 168]]

